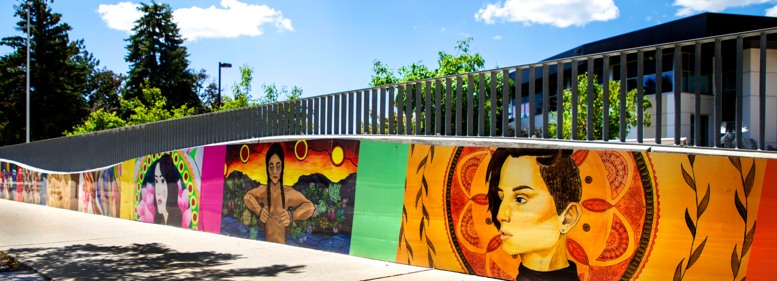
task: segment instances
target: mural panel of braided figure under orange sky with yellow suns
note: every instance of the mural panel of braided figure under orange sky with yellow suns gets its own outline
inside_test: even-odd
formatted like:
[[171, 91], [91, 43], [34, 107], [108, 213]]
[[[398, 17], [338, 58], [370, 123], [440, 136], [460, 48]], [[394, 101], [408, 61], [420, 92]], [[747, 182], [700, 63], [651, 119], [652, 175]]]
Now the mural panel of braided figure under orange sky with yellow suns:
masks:
[[350, 252], [356, 140], [228, 145], [221, 234]]

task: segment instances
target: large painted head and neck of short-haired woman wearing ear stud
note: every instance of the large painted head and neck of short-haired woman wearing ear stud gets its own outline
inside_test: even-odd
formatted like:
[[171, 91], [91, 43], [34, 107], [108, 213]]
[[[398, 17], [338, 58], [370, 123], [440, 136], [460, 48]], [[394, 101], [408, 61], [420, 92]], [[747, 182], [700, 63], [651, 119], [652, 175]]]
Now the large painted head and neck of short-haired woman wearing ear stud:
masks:
[[502, 250], [519, 255], [516, 280], [578, 280], [566, 234], [580, 221], [580, 170], [571, 150], [498, 148], [486, 168]]

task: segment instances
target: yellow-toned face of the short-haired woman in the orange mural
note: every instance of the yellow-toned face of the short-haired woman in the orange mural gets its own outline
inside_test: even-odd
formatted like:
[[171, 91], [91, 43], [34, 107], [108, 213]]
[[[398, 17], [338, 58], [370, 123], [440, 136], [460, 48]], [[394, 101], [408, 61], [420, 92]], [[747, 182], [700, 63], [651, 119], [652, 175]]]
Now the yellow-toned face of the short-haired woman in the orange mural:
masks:
[[502, 250], [508, 255], [555, 248], [563, 216], [539, 174], [536, 157], [507, 158], [499, 182]]

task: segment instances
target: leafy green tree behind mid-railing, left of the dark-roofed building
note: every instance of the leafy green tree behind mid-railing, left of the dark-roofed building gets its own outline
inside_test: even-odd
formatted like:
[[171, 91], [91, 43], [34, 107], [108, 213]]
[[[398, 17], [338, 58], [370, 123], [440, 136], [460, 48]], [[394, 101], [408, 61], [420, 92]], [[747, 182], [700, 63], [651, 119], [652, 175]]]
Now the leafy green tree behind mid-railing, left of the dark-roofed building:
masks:
[[[373, 68], [372, 68], [373, 75], [372, 75], [372, 79], [371, 79], [371, 82], [370, 82], [370, 86], [371, 87], [378, 87], [378, 86], [382, 86], [382, 85], [392, 85], [392, 84], [396, 84], [396, 83], [411, 82], [411, 81], [416, 81], [416, 80], [421, 80], [421, 79], [437, 78], [437, 77], [444, 77], [444, 76], [448, 76], [448, 75], [459, 75], [459, 74], [465, 74], [465, 73], [474, 72], [474, 71], [482, 71], [484, 66], [485, 66], [486, 61], [483, 59], [483, 57], [480, 56], [480, 54], [478, 54], [478, 53], [471, 54], [470, 53], [469, 43], [472, 42], [472, 40], [473, 40], [472, 37], [468, 37], [465, 40], [457, 41], [456, 47], [455, 47], [456, 54], [448, 54], [448, 53], [445, 53], [444, 51], [438, 52], [437, 53], [437, 56], [438, 56], [437, 57], [438, 68], [435, 68], [435, 69], [428, 68], [425, 64], [423, 64], [423, 61], [418, 61], [418, 62], [415, 62], [413, 64], [400, 67], [399, 69], [397, 69], [395, 71], [394, 69], [389, 68], [389, 66], [387, 64], [382, 63], [381, 61], [375, 60], [375, 61], [373, 61]], [[484, 113], [485, 113], [485, 121], [486, 121], [486, 123], [485, 123], [486, 130], [485, 130], [484, 134], [486, 134], [486, 135], [490, 135], [490, 111], [491, 111], [491, 106], [496, 106], [497, 114], [500, 114], [501, 110], [502, 110], [502, 100], [501, 99], [497, 99], [497, 105], [491, 105], [491, 102], [490, 102], [491, 79], [497, 79], [497, 85], [501, 85], [502, 81], [503, 81], [501, 73], [497, 74], [495, 77], [492, 77], [492, 75], [484, 75], [484, 79], [483, 79], [483, 82], [485, 84], [484, 85], [484, 100], [485, 100], [485, 105], [484, 105], [484, 107], [485, 107], [484, 111], [485, 112]], [[510, 81], [510, 80], [508, 80], [508, 81], [510, 82], [510, 84], [513, 84], [512, 81]], [[413, 104], [411, 105], [412, 110], [410, 112], [406, 112], [405, 116], [392, 116], [392, 118], [396, 118], [399, 123], [403, 123], [403, 124], [404, 124], [404, 122], [406, 121], [407, 118], [410, 118], [411, 119], [411, 124], [412, 124], [411, 125], [412, 126], [412, 128], [411, 128], [412, 131], [415, 131], [416, 124], [418, 124], [418, 125], [425, 124], [426, 118], [431, 118], [431, 122], [430, 122], [431, 126], [433, 128], [435, 128], [436, 124], [434, 124], [435, 120], [434, 120], [433, 116], [434, 116], [434, 114], [436, 113], [437, 110], [441, 110], [441, 116], [442, 116], [443, 120], [444, 120], [444, 116], [446, 114], [451, 115], [451, 132], [455, 132], [455, 127], [456, 127], [456, 124], [455, 124], [455, 114], [457, 114], [455, 112], [456, 102], [463, 102], [463, 105], [465, 105], [465, 106], [462, 106], [462, 114], [465, 117], [462, 118], [462, 134], [466, 134], [467, 130], [465, 130], [464, 128], [466, 128], [468, 126], [473, 126], [475, 128], [479, 127], [479, 120], [478, 120], [478, 117], [477, 117], [478, 114], [479, 114], [479, 106], [480, 106], [479, 105], [479, 93], [478, 93], [479, 83], [480, 83], [479, 75], [476, 75], [473, 78], [472, 85], [469, 85], [469, 81], [466, 78], [464, 78], [463, 79], [463, 83], [462, 83], [462, 93], [464, 93], [464, 96], [462, 97], [463, 99], [460, 100], [460, 101], [457, 100], [457, 99], [451, 99], [451, 108], [450, 109], [446, 109], [446, 108], [444, 108], [444, 106], [442, 106], [443, 108], [441, 108], [441, 109], [437, 109], [436, 106], [434, 106], [434, 104], [427, 105], [426, 104], [426, 92], [427, 92], [426, 85], [423, 84], [423, 85], [421, 85], [420, 88], [417, 88], [417, 85], [411, 85], [410, 88], [413, 91], [413, 100], [416, 98], [416, 95], [414, 94], [415, 91], [419, 91], [420, 90], [422, 92], [422, 95], [421, 95], [421, 101], [422, 101], [421, 102], [421, 120], [417, 120], [417, 121], [415, 120], [415, 114], [414, 114], [414, 112], [415, 112], [415, 104], [414, 103], [415, 102], [413, 102]], [[445, 87], [444, 82], [441, 83], [441, 84], [442, 84], [443, 87]], [[453, 81], [451, 87], [452, 87], [451, 92], [455, 93], [457, 91], [457, 88], [456, 88], [457, 86], [456, 86], [455, 80]], [[466, 105], [469, 105], [469, 101], [468, 101], [468, 99], [466, 97], [466, 93], [468, 92], [469, 87], [474, 87], [473, 88], [473, 92], [474, 92], [473, 98], [475, 99], [473, 101], [474, 102], [474, 110], [475, 110], [475, 112], [474, 112], [475, 115], [474, 116], [475, 117], [474, 117], [474, 122], [472, 122], [472, 123], [467, 123], [467, 118], [466, 118], [466, 116], [468, 114], [468, 109], [467, 109]], [[499, 96], [501, 96], [501, 89], [502, 89], [501, 87], [499, 89], [497, 89], [498, 90], [497, 95], [499, 95]], [[429, 92], [432, 93], [432, 95], [433, 95], [433, 97], [432, 97], [432, 101], [433, 102], [434, 102], [434, 99], [435, 99], [434, 96], [436, 96], [436, 95], [434, 95], [436, 90], [437, 90], [436, 83], [432, 83]], [[445, 92], [445, 91], [447, 91], [447, 89], [446, 88], [442, 88], [441, 91]], [[440, 101], [441, 105], [445, 104], [446, 99], [448, 99], [448, 96], [443, 95], [443, 98]], [[405, 107], [406, 105], [407, 105], [407, 96], [406, 95], [405, 95], [405, 98], [402, 99], [402, 101], [397, 101], [397, 103], [395, 103], [395, 106], [403, 106], [402, 107], [403, 109], [406, 108]], [[501, 135], [502, 134], [501, 133], [501, 130], [502, 130], [501, 123], [502, 123], [501, 118], [497, 118], [497, 124], [496, 124], [497, 125], [496, 126], [497, 127], [497, 132], [496, 132], [497, 135]], [[473, 130], [473, 133], [478, 134], [478, 130], [477, 129]]]

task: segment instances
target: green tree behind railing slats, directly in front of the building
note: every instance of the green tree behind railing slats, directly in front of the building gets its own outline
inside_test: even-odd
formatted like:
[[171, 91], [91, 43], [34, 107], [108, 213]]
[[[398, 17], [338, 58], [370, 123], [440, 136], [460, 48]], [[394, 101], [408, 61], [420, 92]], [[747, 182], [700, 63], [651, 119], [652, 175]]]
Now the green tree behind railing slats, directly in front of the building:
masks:
[[[594, 76], [594, 81], [596, 81]], [[620, 136], [620, 92], [621, 82], [610, 81], [609, 85], [609, 137], [608, 140], [617, 139]], [[588, 95], [588, 75], [577, 76], [577, 139], [587, 139], [587, 95]], [[604, 109], [604, 99], [602, 99], [604, 88], [602, 85], [594, 83], [594, 140], [601, 140], [604, 135], [602, 118]], [[563, 120], [562, 133], [563, 139], [570, 140], [572, 136], [572, 91], [571, 89], [565, 89], [563, 92], [564, 108], [563, 108]], [[643, 96], [643, 109], [650, 109], [653, 104], [647, 99], [647, 96]], [[556, 137], [556, 113], [551, 113], [552, 123], [548, 126], [549, 136]], [[626, 131], [631, 130], [632, 127], [637, 126], [637, 110], [636, 110], [636, 89], [626, 93]], [[646, 127], [650, 127], [650, 113], [645, 112], [643, 116], [643, 123]]]

